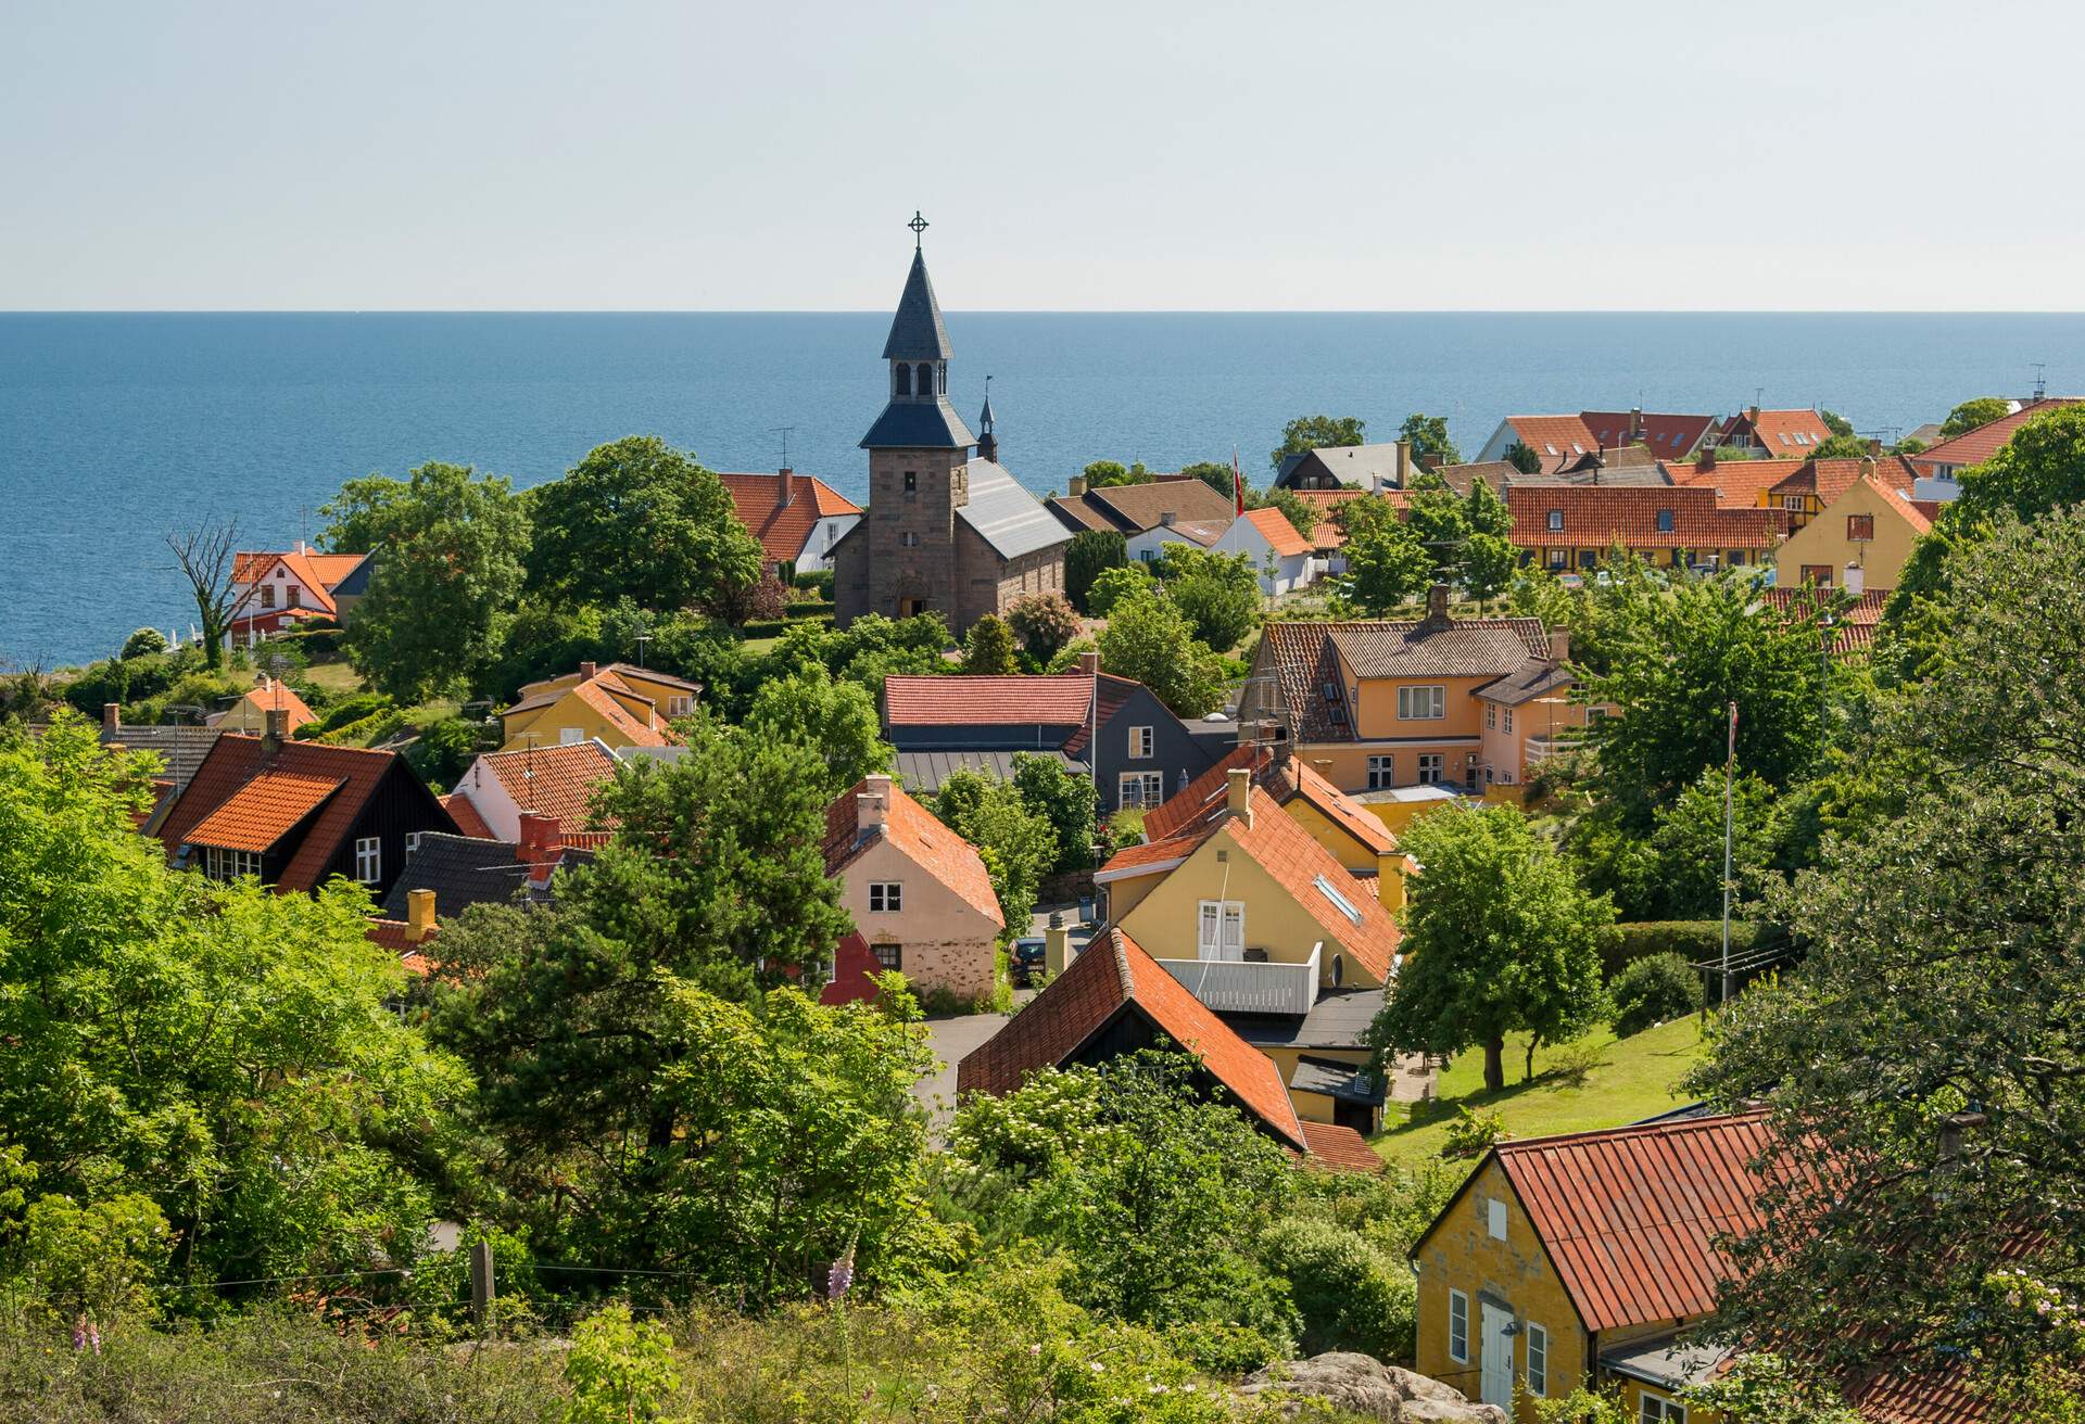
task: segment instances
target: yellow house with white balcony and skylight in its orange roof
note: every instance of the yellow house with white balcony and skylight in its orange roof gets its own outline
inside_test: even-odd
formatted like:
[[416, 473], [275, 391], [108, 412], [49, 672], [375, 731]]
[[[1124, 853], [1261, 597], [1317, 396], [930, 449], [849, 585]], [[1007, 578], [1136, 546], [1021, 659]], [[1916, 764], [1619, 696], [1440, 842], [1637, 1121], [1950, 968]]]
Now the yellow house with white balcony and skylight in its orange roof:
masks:
[[1374, 1132], [1382, 1082], [1366, 1032], [1397, 972], [1399, 930], [1245, 765], [1224, 801], [1095, 874], [1107, 919], [1274, 1061], [1295, 1111]]

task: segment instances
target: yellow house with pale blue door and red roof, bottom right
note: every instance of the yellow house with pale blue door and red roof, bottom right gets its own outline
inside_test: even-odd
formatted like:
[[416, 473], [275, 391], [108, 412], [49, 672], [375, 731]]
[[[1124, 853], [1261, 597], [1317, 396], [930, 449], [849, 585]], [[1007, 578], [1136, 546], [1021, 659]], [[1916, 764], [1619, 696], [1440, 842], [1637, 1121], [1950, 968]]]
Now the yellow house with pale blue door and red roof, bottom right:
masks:
[[1724, 1355], [1681, 1334], [1716, 1305], [1716, 1236], [1760, 1220], [1766, 1145], [1764, 1113], [1499, 1143], [1412, 1247], [1418, 1372], [1522, 1424], [1578, 1386], [1714, 1424], [1685, 1389]]

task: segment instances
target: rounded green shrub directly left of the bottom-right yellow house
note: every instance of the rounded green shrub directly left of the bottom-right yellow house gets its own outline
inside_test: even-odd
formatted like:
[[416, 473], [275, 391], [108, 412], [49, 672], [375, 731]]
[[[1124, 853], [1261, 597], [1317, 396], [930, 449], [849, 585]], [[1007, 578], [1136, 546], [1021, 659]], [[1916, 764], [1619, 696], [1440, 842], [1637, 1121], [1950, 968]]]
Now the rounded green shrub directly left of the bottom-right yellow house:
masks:
[[1324, 1218], [1276, 1222], [1261, 1255], [1289, 1280], [1305, 1355], [1357, 1349], [1384, 1361], [1412, 1359], [1418, 1297], [1403, 1261]]

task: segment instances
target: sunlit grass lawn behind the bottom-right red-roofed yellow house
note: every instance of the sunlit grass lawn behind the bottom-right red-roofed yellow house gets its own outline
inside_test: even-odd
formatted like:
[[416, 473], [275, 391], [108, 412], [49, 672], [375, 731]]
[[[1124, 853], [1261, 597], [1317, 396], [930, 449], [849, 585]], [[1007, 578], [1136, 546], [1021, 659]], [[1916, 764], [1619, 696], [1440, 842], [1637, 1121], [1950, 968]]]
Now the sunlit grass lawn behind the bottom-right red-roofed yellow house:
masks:
[[[1557, 1057], [1572, 1055], [1585, 1045], [1597, 1051], [1597, 1065], [1583, 1084], [1572, 1086], [1547, 1072]], [[1437, 1101], [1391, 1103], [1384, 1109], [1384, 1132], [1376, 1138], [1376, 1151], [1403, 1165], [1434, 1159], [1447, 1138], [1449, 1120], [1464, 1105], [1497, 1111], [1507, 1136], [1618, 1128], [1678, 1107], [1687, 1099], [1674, 1084], [1701, 1057], [1701, 1020], [1689, 1015], [1622, 1040], [1601, 1028], [1576, 1045], [1537, 1049], [1532, 1082], [1520, 1080], [1526, 1049], [1524, 1034], [1505, 1040], [1505, 1086], [1497, 1092], [1485, 1092], [1482, 1049], [1455, 1055], [1453, 1067], [1441, 1074]], [[1416, 1111], [1405, 1122], [1393, 1122], [1391, 1113], [1399, 1109]]]

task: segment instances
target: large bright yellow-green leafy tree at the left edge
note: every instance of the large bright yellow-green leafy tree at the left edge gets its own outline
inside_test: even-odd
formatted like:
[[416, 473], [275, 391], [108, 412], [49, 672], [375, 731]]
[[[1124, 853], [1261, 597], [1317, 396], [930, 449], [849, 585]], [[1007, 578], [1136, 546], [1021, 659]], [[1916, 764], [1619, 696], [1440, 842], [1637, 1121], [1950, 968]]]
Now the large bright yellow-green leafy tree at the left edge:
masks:
[[365, 938], [359, 886], [169, 869], [131, 824], [150, 761], [104, 753], [69, 709], [42, 736], [0, 732], [0, 1122], [19, 1159], [79, 1211], [138, 1222], [115, 1203], [148, 1197], [181, 1282], [407, 1255], [465, 1074], [386, 1007], [404, 969]]

